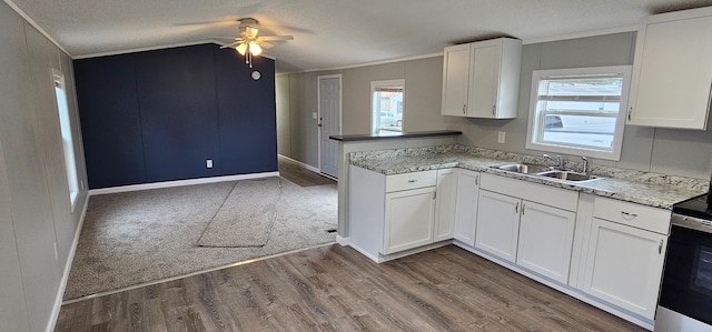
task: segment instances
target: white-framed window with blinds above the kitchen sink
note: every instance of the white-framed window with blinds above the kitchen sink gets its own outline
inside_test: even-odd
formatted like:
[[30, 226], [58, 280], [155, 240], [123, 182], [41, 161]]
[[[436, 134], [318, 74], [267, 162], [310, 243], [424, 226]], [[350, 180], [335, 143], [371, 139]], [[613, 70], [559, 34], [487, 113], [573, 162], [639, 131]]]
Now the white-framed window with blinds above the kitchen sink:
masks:
[[527, 149], [620, 160], [630, 66], [536, 70]]

